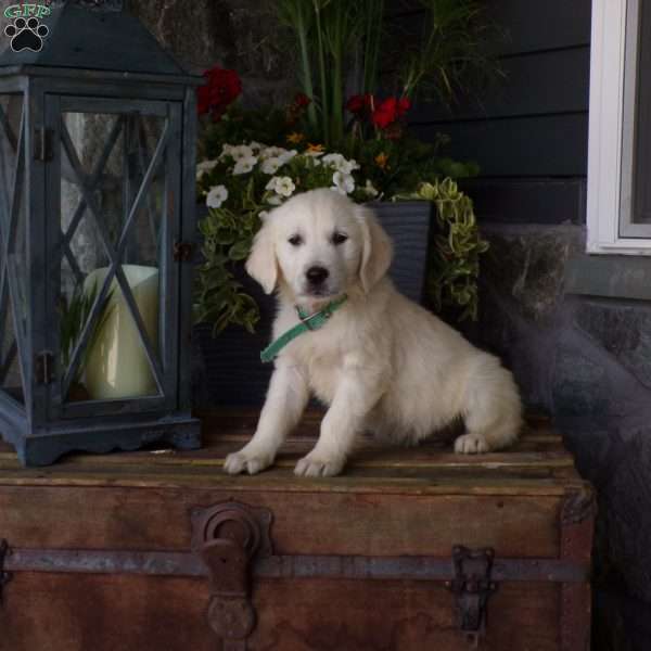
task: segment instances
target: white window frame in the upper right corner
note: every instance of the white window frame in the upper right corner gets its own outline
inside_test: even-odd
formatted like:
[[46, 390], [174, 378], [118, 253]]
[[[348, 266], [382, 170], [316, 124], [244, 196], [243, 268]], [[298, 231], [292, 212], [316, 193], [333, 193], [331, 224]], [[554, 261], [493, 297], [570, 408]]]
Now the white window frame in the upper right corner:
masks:
[[630, 224], [639, 1], [592, 0], [588, 253], [651, 255], [651, 225]]

